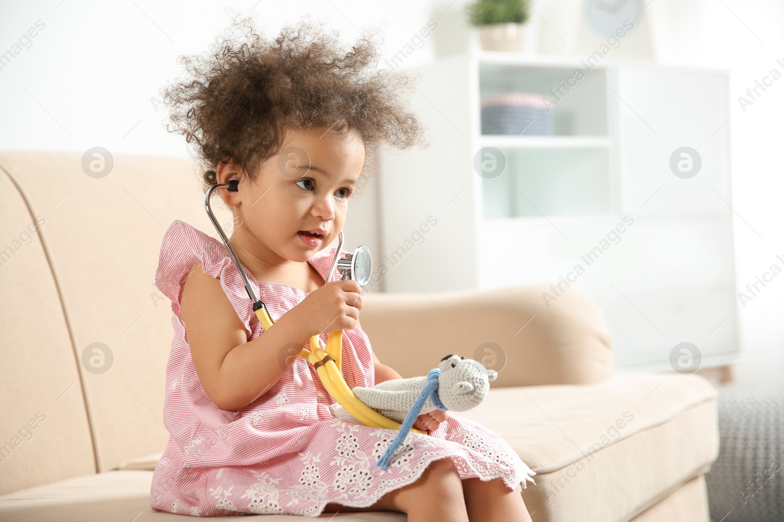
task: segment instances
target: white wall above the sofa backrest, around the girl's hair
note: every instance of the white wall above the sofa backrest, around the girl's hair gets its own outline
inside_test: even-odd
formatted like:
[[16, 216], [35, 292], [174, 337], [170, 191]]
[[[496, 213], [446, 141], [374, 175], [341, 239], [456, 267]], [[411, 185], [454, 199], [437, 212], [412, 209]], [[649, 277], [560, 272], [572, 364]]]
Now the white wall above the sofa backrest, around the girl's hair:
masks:
[[[270, 2], [51, 2], [0, 1], [0, 55], [18, 54], [0, 69], [0, 149], [187, 157], [182, 136], [165, 131], [166, 107], [158, 89], [181, 74], [177, 57], [201, 53], [230, 22], [230, 9], [256, 15], [257, 28], [277, 32], [308, 14], [354, 40], [363, 27], [386, 34], [383, 56], [392, 56], [426, 21], [429, 6], [416, 0]], [[40, 20], [40, 21], [38, 21]], [[34, 38], [14, 48], [34, 28]], [[432, 59], [430, 48], [408, 59]], [[205, 231], [212, 233], [214, 231]], [[378, 251], [375, 182], [353, 199], [346, 244]], [[336, 244], [336, 243], [335, 243]]]

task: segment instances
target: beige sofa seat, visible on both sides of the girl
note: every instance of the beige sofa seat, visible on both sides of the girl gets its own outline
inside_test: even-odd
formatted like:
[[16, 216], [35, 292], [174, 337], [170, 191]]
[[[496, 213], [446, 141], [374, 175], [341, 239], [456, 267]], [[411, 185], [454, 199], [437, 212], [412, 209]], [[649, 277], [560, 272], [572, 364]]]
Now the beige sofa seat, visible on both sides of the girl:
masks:
[[[536, 485], [522, 491], [536, 522], [626, 522], [649, 507], [664, 509], [657, 508], [662, 499], [683, 484], [697, 487], [690, 479], [717, 456], [715, 397], [699, 376], [621, 373], [591, 385], [493, 388], [479, 407], [453, 415], [494, 430], [538, 473]], [[158, 456], [123, 466], [154, 468]], [[0, 519], [58, 520], [53, 509], [63, 516], [84, 513], [80, 520], [174, 517], [151, 511], [151, 476], [149, 470], [118, 470], [18, 491], [0, 497]], [[690, 513], [707, 509], [704, 492], [691, 502], [684, 495], [677, 499]], [[399, 513], [350, 516], [405, 520]], [[302, 517], [264, 520], [296, 518]]]

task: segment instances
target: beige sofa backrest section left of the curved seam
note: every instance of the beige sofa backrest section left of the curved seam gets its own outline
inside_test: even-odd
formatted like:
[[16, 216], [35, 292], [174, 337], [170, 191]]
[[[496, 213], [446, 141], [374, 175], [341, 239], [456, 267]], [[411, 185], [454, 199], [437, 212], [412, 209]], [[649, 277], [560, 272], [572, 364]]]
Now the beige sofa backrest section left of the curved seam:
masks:
[[31, 208], [22, 189], [0, 173], [0, 494], [95, 471], [71, 331], [40, 240], [52, 213]]

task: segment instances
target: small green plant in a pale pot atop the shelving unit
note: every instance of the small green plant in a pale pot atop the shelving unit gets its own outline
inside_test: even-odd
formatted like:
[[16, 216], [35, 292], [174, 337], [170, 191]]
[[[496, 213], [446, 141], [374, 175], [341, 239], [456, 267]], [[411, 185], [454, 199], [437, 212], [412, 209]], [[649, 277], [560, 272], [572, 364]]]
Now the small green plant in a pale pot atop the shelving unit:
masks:
[[521, 51], [523, 24], [528, 21], [526, 0], [477, 0], [468, 5], [468, 16], [479, 27], [485, 51]]

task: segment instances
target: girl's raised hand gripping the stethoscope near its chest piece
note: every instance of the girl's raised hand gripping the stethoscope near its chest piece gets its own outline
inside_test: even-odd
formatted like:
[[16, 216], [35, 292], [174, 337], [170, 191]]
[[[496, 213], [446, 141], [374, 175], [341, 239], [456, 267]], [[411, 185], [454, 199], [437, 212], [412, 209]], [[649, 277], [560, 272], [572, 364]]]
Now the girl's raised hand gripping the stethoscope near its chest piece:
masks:
[[362, 309], [362, 287], [353, 279], [332, 281], [307, 294], [296, 310], [308, 337], [354, 329]]

